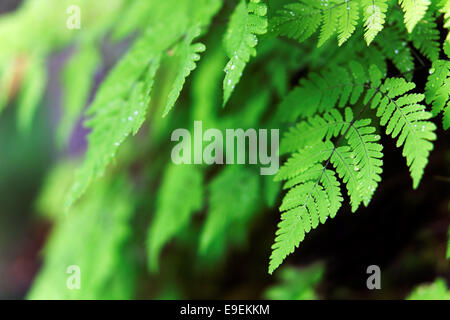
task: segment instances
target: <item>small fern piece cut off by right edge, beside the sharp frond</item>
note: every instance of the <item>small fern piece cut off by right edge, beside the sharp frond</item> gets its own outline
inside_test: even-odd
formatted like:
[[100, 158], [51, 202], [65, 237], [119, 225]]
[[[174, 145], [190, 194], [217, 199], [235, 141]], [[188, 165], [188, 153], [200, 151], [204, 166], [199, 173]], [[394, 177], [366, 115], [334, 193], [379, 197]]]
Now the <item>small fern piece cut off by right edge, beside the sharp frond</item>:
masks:
[[450, 61], [437, 60], [430, 69], [425, 87], [426, 102], [431, 103], [434, 115], [443, 112], [443, 127], [450, 127]]

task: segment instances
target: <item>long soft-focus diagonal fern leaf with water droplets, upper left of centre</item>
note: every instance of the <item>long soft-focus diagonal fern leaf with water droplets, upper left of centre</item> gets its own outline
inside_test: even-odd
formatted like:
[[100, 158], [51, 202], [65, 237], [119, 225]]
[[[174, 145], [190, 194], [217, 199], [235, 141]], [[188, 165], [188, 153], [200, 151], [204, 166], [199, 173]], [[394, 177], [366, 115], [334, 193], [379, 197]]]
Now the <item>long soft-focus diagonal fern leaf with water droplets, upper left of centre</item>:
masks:
[[[148, 40], [150, 39], [140, 39], [121, 60], [103, 83], [89, 109], [89, 113], [94, 115], [86, 124], [92, 128], [88, 138], [89, 147], [84, 164], [69, 193], [68, 208], [84, 193], [92, 180], [104, 173], [120, 144], [131, 133], [136, 134], [144, 121], [153, 79], [160, 61], [158, 53], [154, 53], [149, 60], [148, 55], [154, 48], [154, 42]], [[142, 66], [142, 63], [146, 66]], [[142, 68], [146, 70], [144, 74]], [[130, 98], [124, 100], [128, 93]]]

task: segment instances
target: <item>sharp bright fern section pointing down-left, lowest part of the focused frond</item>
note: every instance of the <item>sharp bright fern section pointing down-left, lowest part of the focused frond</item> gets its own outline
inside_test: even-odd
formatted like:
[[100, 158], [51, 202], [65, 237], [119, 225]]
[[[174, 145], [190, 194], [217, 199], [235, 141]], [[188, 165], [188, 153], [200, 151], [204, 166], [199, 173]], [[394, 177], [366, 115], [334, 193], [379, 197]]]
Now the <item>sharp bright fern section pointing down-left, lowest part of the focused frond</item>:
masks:
[[[335, 172], [321, 165], [335, 148], [332, 142], [318, 142], [299, 150], [278, 172], [277, 180], [288, 180], [293, 186], [280, 206], [285, 211], [276, 232], [270, 256], [271, 274], [299, 243], [305, 234], [333, 218], [341, 206], [342, 196]], [[298, 161], [299, 159], [307, 161]], [[314, 159], [314, 160], [312, 160]], [[292, 182], [292, 180], [294, 182]], [[295, 185], [295, 186], [294, 186]]]

